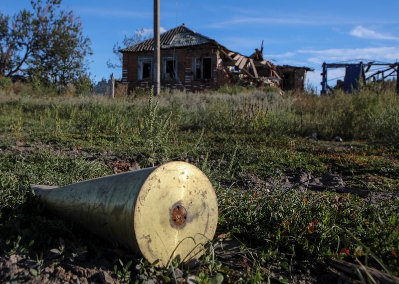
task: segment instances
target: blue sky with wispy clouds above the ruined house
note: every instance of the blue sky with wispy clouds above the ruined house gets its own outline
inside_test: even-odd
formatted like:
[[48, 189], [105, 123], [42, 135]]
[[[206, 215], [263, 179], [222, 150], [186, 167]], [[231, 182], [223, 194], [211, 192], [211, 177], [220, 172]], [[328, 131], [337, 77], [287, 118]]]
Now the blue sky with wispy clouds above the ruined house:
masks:
[[[30, 8], [30, 0], [0, 3], [4, 14]], [[151, 0], [63, 0], [62, 7], [75, 11], [92, 41], [94, 55], [88, 59], [96, 81], [111, 72], [121, 77], [121, 69], [106, 66], [114, 43], [153, 25]], [[264, 57], [275, 64], [315, 68], [308, 79], [320, 90], [323, 61], [399, 59], [398, 11], [398, 0], [161, 0], [161, 26], [167, 30], [185, 23], [245, 55], [264, 40]], [[329, 78], [342, 74], [332, 70]]]

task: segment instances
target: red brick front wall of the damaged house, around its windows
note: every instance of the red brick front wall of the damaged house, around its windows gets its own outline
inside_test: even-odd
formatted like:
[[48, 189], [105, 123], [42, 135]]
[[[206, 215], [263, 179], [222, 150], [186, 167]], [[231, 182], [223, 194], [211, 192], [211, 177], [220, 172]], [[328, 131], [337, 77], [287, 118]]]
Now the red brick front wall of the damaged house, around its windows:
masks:
[[[129, 52], [123, 54], [122, 82], [128, 84], [129, 92], [136, 87], [151, 88], [152, 80], [138, 80], [139, 57], [152, 57], [152, 51]], [[177, 58], [178, 79], [163, 80], [163, 57]], [[212, 58], [212, 78], [195, 79], [194, 58]], [[171, 89], [186, 89], [187, 91], [202, 91], [206, 89], [218, 89], [229, 82], [229, 77], [223, 68], [222, 61], [216, 48], [209, 46], [185, 49], [161, 50], [161, 85]]]

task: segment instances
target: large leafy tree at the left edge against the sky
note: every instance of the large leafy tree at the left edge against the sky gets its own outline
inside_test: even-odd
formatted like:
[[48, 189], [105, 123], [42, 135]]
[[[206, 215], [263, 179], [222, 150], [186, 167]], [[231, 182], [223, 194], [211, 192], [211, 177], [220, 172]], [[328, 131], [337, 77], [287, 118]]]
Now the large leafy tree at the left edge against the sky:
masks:
[[0, 13], [0, 76], [22, 73], [46, 86], [65, 87], [86, 75], [90, 39], [80, 19], [60, 3], [31, 0], [32, 11]]

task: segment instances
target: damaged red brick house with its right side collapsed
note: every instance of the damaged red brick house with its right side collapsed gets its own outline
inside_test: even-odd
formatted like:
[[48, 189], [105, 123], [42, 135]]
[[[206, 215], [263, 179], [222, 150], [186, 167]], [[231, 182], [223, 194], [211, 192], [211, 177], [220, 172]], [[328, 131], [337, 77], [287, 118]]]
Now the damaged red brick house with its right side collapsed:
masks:
[[[150, 38], [120, 50], [123, 54], [122, 82], [128, 84], [129, 92], [136, 87], [151, 87], [153, 44], [154, 39]], [[239, 81], [251, 85], [284, 86], [283, 74], [292, 72], [291, 69], [278, 69], [263, 58], [233, 52], [184, 24], [162, 33], [160, 45], [161, 85], [167, 88], [195, 92], [218, 89]], [[306, 71], [311, 69], [304, 70], [302, 82], [296, 80], [299, 83], [293, 84], [292, 89], [300, 84], [303, 88]], [[293, 72], [296, 79], [296, 71]]]

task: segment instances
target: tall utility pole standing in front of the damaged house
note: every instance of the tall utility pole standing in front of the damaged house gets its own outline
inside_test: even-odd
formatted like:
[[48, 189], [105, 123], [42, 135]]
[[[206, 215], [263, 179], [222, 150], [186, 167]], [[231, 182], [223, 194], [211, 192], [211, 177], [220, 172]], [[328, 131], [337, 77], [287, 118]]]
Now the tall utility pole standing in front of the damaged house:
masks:
[[159, 95], [161, 89], [161, 48], [160, 48], [160, 35], [159, 35], [159, 10], [160, 0], [154, 0], [154, 57], [153, 57], [153, 84], [154, 96]]

